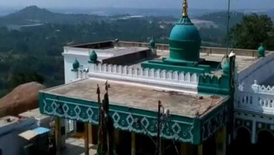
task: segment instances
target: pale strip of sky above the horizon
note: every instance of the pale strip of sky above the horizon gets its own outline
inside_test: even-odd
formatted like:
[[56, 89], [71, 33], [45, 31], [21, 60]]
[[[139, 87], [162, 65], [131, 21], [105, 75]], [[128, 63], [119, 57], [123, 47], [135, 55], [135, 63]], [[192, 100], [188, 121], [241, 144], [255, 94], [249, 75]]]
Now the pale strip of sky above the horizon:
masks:
[[[24, 7], [37, 5], [44, 8], [60, 7], [123, 7], [123, 8], [178, 8], [183, 0], [0, 0], [0, 6]], [[227, 8], [228, 0], [188, 0], [190, 8]], [[274, 0], [231, 0], [231, 7], [274, 8]]]

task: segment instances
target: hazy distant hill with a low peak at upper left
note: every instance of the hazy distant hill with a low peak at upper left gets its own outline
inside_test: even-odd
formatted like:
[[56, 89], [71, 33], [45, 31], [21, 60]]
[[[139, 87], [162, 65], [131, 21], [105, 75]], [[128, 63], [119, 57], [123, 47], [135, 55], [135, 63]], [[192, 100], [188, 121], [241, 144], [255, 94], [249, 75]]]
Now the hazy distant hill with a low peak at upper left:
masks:
[[77, 24], [102, 20], [100, 16], [53, 13], [37, 6], [28, 6], [0, 18], [0, 25], [32, 25], [37, 23]]

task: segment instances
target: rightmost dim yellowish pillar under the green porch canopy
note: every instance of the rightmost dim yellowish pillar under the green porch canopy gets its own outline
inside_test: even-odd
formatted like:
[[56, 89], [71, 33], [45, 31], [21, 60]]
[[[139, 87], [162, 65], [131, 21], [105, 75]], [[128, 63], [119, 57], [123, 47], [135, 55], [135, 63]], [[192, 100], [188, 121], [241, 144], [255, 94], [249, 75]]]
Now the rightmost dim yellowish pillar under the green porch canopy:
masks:
[[216, 155], [226, 155], [226, 125], [217, 132]]

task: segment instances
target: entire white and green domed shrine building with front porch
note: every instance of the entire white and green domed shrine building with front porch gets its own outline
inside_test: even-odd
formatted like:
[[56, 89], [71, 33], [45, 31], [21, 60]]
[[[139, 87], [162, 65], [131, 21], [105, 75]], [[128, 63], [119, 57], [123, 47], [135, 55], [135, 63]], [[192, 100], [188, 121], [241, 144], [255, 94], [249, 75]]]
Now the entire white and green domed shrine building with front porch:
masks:
[[39, 93], [40, 112], [56, 117], [57, 154], [71, 134], [84, 135], [86, 154], [89, 144], [133, 155], [271, 147], [271, 51], [202, 47], [186, 0], [169, 44], [155, 40], [64, 47], [65, 85]]

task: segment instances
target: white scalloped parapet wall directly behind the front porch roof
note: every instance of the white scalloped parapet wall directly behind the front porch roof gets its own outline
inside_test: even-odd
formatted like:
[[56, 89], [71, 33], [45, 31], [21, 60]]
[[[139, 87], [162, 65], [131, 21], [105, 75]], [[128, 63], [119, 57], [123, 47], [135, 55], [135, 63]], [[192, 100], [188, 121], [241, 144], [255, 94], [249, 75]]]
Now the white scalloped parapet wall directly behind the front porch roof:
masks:
[[131, 68], [112, 64], [91, 64], [90, 77], [102, 77], [115, 80], [127, 80], [166, 87], [195, 89], [197, 92], [198, 76], [196, 73], [179, 73], [153, 68]]

